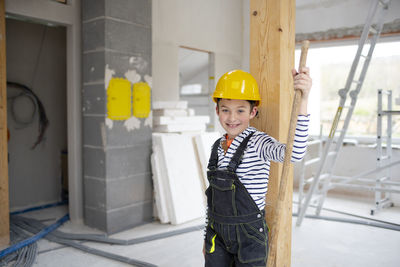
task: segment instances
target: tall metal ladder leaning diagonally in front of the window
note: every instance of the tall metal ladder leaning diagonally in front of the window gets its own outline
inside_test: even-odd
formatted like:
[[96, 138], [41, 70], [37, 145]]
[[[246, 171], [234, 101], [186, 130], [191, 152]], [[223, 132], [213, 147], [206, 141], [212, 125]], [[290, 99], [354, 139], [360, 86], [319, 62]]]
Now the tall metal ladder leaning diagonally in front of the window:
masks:
[[[304, 203], [299, 203], [300, 212], [298, 214], [296, 221], [297, 226], [300, 226], [302, 223], [302, 220], [305, 216], [308, 206], [310, 205], [311, 198], [316, 190], [317, 185], [318, 185], [318, 191], [320, 193], [317, 199], [318, 201], [316, 209], [317, 215], [319, 215], [321, 212], [327, 191], [332, 188], [332, 186], [330, 186], [331, 175], [335, 168], [337, 156], [342, 147], [343, 140], [350, 123], [351, 116], [353, 115], [353, 111], [357, 102], [357, 97], [362, 88], [368, 70], [368, 66], [372, 58], [372, 53], [375, 48], [375, 44], [381, 34], [383, 28], [383, 20], [387, 13], [389, 4], [390, 0], [388, 1], [373, 0], [371, 2], [367, 20], [364, 25], [360, 40], [358, 42], [357, 53], [356, 56], [354, 57], [353, 64], [351, 66], [349, 75], [347, 77], [345, 88], [340, 89], [338, 92], [340, 96], [339, 107], [337, 109], [335, 118], [333, 120], [329, 137], [325, 143], [319, 167], [313, 178], [312, 184], [307, 192], [307, 195], [305, 196]], [[369, 35], [371, 35], [370, 38]], [[364, 45], [368, 40], [370, 41], [370, 46], [368, 49], [368, 53], [365, 55], [362, 52], [364, 49]], [[358, 78], [355, 79], [361, 58], [364, 59], [364, 62], [362, 63], [361, 72]], [[347, 95], [349, 95], [351, 98], [351, 102], [349, 105], [345, 105]], [[345, 111], [345, 113], [347, 111], [347, 113], [345, 115], [344, 121], [341, 121], [340, 118], [343, 111]], [[339, 130], [337, 130], [338, 126], [340, 126]], [[340, 133], [339, 137], [337, 137], [338, 133]], [[331, 148], [331, 146], [333, 147]], [[326, 171], [326, 173], [323, 173], [324, 171]], [[322, 188], [320, 180], [322, 180]]]

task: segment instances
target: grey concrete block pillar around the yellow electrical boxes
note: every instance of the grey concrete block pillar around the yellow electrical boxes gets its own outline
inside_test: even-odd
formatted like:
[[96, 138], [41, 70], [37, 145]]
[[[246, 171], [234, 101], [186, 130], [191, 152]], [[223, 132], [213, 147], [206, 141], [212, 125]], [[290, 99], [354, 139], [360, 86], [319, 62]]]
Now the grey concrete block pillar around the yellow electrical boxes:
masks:
[[84, 217], [107, 233], [152, 220], [150, 118], [107, 118], [110, 78], [151, 83], [151, 13], [148, 0], [82, 1]]

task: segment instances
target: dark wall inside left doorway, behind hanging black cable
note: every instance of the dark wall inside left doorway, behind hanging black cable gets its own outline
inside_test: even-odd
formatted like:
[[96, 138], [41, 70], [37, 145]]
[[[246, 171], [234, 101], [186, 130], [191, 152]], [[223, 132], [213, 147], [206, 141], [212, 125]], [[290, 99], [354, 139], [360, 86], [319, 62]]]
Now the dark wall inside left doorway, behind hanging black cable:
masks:
[[6, 27], [7, 81], [31, 88], [49, 119], [43, 143], [32, 150], [38, 111], [26, 127], [17, 124], [11, 109], [19, 118], [29, 118], [33, 106], [26, 98], [11, 98], [21, 91], [9, 88], [10, 210], [19, 210], [61, 199], [61, 151], [67, 148], [66, 30], [13, 19], [6, 20]]

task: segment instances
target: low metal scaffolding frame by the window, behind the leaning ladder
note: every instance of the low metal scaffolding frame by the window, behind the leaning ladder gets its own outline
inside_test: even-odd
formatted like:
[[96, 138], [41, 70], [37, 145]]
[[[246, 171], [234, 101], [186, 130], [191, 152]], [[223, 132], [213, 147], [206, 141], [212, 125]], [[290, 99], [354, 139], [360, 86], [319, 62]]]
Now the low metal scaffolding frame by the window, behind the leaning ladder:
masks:
[[[387, 96], [387, 109], [384, 109], [383, 96]], [[400, 194], [400, 181], [392, 180], [391, 168], [400, 165], [400, 160], [393, 160], [392, 151], [392, 123], [393, 115], [400, 115], [400, 110], [393, 110], [392, 104], [392, 91], [378, 89], [377, 101], [377, 136], [376, 136], [376, 167], [371, 170], [364, 171], [354, 176], [339, 176], [331, 175], [328, 187], [323, 187], [324, 179], [327, 176], [321, 177], [320, 184], [317, 187], [317, 195], [327, 193], [327, 191], [334, 188], [351, 188], [360, 189], [374, 192], [374, 204], [370, 210], [370, 214], [374, 215], [379, 210], [384, 208], [393, 207], [392, 194]], [[386, 116], [386, 130], [384, 131], [383, 120]], [[384, 153], [384, 144], [386, 153]], [[318, 156], [311, 159], [303, 159], [300, 163], [300, 177], [299, 177], [299, 195], [298, 195], [298, 212], [304, 206], [305, 187], [310, 185], [315, 177], [312, 176], [308, 179], [305, 178], [306, 168], [317, 164], [321, 160], [323, 140], [313, 140], [308, 142], [308, 146], [318, 145]], [[367, 178], [367, 176], [376, 174], [376, 178]], [[399, 177], [400, 178], [400, 177]], [[325, 190], [325, 191], [324, 191]], [[312, 205], [317, 204], [317, 199], [314, 199]]]

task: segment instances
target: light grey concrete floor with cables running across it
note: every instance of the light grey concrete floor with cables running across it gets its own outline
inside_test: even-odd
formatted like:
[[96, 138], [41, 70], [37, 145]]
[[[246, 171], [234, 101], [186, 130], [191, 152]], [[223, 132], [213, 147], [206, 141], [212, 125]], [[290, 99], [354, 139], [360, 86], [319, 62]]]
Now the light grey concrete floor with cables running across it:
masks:
[[[336, 196], [327, 198], [325, 203], [325, 208], [371, 217], [369, 215], [370, 200], [366, 202], [360, 199], [350, 200], [348, 197]], [[293, 210], [296, 211], [296, 206], [293, 207]], [[44, 220], [59, 218], [66, 212], [66, 207], [58, 207], [27, 213], [25, 216]], [[309, 213], [313, 214], [312, 212], [310, 209]], [[329, 211], [323, 211], [321, 215], [352, 218]], [[386, 209], [371, 218], [399, 224], [400, 208]], [[360, 220], [359, 218], [352, 219]], [[400, 231], [316, 219], [305, 219], [301, 227], [296, 227], [295, 222], [296, 217], [293, 218], [292, 230], [293, 267], [400, 266]], [[112, 237], [131, 239], [202, 223], [204, 223], [203, 219], [180, 226], [154, 222], [115, 234]], [[70, 222], [65, 223], [59, 230], [74, 233], [98, 233], [88, 227], [74, 225]], [[131, 246], [93, 242], [84, 242], [83, 244], [163, 267], [204, 265], [203, 232], [201, 230]], [[39, 254], [34, 266], [129, 266], [44, 239], [38, 242], [38, 246]]]

